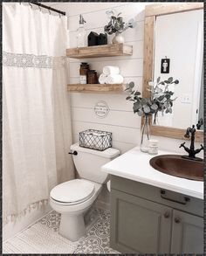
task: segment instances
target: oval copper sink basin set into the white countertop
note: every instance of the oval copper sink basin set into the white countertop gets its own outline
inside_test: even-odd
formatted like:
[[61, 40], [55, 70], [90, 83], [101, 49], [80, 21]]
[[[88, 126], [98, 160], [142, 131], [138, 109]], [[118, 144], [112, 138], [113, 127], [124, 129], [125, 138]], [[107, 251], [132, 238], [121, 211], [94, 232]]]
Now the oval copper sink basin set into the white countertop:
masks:
[[184, 159], [179, 155], [154, 156], [150, 165], [163, 173], [203, 181], [203, 162]]

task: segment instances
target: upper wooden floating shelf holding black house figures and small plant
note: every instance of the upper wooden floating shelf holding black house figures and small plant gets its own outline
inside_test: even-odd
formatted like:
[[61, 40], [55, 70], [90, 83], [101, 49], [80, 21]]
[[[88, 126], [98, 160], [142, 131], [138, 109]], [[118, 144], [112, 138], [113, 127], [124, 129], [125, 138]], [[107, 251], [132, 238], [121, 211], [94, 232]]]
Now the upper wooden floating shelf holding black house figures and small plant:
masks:
[[127, 56], [133, 54], [133, 45], [111, 44], [66, 49], [66, 56], [74, 59]]

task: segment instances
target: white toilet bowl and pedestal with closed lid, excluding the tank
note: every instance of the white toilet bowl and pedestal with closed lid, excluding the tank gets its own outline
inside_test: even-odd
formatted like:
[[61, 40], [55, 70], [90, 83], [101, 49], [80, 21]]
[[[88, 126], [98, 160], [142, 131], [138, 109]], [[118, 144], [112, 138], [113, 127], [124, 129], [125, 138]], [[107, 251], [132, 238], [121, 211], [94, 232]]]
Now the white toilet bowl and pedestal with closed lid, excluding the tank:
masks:
[[[87, 190], [85, 188], [86, 184], [88, 184]], [[75, 190], [73, 190], [74, 186], [76, 186]], [[99, 183], [75, 179], [61, 183], [51, 191], [50, 204], [52, 209], [61, 213], [59, 234], [71, 241], [76, 241], [85, 234], [84, 213], [100, 194], [101, 187]], [[61, 200], [60, 193], [64, 195], [64, 192], [65, 196]], [[79, 192], [79, 196], [72, 197], [77, 192]], [[68, 196], [67, 199], [66, 196]]]

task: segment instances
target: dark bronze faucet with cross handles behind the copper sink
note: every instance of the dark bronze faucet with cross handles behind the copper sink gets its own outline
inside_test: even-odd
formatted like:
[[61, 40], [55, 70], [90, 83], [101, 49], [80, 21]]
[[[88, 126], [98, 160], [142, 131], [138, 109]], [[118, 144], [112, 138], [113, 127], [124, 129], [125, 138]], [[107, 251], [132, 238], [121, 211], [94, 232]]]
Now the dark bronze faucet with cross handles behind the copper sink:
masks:
[[202, 158], [196, 157], [196, 154], [199, 153], [201, 150], [203, 150], [203, 145], [201, 144], [201, 149], [195, 149], [195, 134], [196, 134], [196, 128], [195, 125], [192, 126], [192, 128], [187, 128], [186, 134], [184, 135], [185, 138], [189, 138], [189, 135], [191, 134], [191, 144], [190, 148], [187, 148], [184, 146], [185, 142], [183, 142], [179, 148], [184, 148], [185, 151], [189, 153], [189, 156], [182, 156], [183, 158], [188, 158], [190, 160], [196, 160], [196, 161], [203, 161]]

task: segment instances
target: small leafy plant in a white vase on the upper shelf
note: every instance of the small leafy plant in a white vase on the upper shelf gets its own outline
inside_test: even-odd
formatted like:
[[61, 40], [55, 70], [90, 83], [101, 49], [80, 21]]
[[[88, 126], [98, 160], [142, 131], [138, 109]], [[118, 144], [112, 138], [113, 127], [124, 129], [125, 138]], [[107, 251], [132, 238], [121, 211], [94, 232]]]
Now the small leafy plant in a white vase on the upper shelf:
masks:
[[115, 34], [113, 38], [113, 44], [124, 43], [124, 38], [121, 33], [126, 31], [128, 28], [134, 28], [135, 22], [134, 19], [130, 19], [127, 23], [123, 21], [123, 17], [120, 17], [121, 12], [118, 15], [115, 15], [113, 10], [106, 11], [106, 15], [110, 18], [109, 23], [105, 26], [104, 30], [107, 34]]

